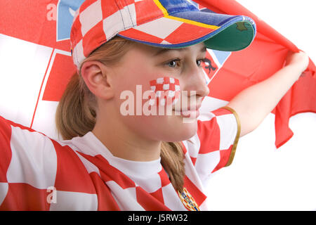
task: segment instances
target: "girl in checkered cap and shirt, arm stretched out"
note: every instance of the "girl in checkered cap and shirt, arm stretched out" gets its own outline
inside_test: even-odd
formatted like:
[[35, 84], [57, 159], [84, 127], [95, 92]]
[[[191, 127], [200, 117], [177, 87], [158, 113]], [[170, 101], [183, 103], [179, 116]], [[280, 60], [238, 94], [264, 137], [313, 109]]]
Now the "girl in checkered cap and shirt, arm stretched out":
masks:
[[84, 1], [71, 31], [77, 74], [56, 113], [64, 141], [0, 117], [0, 210], [207, 210], [210, 174], [308, 66], [289, 53], [224, 108], [199, 110], [206, 48], [241, 50], [255, 33], [250, 18], [185, 0]]

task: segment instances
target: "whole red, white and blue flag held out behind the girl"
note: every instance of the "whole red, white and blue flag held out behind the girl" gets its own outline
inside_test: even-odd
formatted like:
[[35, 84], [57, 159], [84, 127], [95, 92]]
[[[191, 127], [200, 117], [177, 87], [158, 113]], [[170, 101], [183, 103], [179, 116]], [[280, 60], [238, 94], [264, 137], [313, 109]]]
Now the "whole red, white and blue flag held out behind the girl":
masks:
[[[76, 69], [70, 53], [70, 27], [84, 0], [0, 1], [0, 115], [58, 139], [55, 110]], [[261, 82], [284, 65], [298, 48], [233, 0], [196, 0], [202, 11], [246, 15], [257, 25], [254, 42], [237, 52], [208, 49], [204, 65], [209, 96], [202, 110], [219, 108], [242, 89]], [[310, 65], [275, 110], [277, 148], [293, 132], [289, 118], [316, 113], [315, 65]]]

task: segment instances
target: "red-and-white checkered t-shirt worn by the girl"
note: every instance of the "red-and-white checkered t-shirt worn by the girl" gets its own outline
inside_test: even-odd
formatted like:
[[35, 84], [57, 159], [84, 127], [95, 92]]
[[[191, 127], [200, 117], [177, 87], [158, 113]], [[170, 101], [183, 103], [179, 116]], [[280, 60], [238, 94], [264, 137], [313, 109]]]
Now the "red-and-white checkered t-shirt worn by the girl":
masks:
[[208, 210], [204, 186], [230, 165], [239, 138], [237, 114], [220, 108], [199, 116], [183, 141], [182, 193], [159, 160], [114, 157], [92, 132], [55, 141], [0, 117], [0, 210]]

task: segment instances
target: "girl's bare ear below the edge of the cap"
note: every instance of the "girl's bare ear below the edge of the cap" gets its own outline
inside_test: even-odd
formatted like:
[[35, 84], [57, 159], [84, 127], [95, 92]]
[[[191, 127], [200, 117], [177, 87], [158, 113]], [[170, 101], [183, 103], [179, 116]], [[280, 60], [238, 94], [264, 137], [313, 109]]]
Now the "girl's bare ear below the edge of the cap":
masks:
[[86, 86], [95, 96], [103, 99], [114, 96], [110, 71], [110, 68], [99, 61], [88, 61], [81, 66], [81, 76]]

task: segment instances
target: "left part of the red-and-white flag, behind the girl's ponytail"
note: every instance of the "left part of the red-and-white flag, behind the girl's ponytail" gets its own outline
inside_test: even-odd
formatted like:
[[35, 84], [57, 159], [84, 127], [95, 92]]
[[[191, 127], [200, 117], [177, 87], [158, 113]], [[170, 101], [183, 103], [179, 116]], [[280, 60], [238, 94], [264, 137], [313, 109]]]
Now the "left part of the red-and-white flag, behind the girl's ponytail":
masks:
[[76, 71], [74, 12], [84, 0], [0, 1], [0, 115], [58, 139], [55, 110]]

